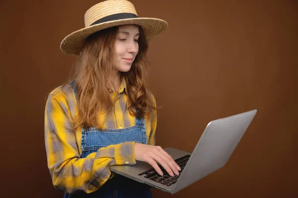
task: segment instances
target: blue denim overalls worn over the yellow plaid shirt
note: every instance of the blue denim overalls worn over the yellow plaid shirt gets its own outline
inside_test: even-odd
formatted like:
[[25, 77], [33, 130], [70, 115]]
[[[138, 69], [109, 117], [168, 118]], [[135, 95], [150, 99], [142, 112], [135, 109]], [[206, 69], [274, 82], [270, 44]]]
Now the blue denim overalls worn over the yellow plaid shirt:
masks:
[[[72, 86], [75, 98], [77, 99], [77, 87], [74, 85], [74, 80], [69, 85]], [[82, 126], [80, 157], [84, 158], [92, 152], [97, 152], [101, 147], [119, 144], [125, 141], [136, 141], [147, 144], [144, 117], [142, 119], [136, 118], [135, 126], [123, 129], [106, 129], [100, 131], [98, 128], [84, 128]], [[152, 198], [149, 188], [147, 185], [115, 173], [112, 179], [109, 179], [100, 189], [93, 193], [65, 194], [64, 198]]]

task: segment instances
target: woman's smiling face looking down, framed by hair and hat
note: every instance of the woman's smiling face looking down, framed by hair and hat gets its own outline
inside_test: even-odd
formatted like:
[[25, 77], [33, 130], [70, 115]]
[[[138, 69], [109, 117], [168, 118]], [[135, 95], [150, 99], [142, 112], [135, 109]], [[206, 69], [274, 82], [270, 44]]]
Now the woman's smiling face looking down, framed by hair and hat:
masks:
[[130, 70], [139, 52], [139, 28], [135, 25], [119, 26], [116, 35], [114, 68], [117, 71], [127, 72]]

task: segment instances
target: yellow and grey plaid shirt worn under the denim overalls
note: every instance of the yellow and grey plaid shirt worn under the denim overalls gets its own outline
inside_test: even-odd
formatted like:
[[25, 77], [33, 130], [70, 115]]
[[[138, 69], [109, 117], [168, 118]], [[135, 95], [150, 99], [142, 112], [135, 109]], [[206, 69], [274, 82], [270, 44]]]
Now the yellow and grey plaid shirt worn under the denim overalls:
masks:
[[[135, 125], [135, 117], [126, 109], [126, 84], [122, 78], [117, 92], [111, 92], [112, 99], [116, 99], [113, 110], [109, 115], [101, 112], [98, 116], [105, 129], [121, 129]], [[153, 96], [152, 96], [153, 97]], [[155, 99], [153, 97], [156, 105]], [[136, 164], [134, 141], [123, 142], [100, 148], [97, 152], [80, 158], [81, 127], [75, 131], [72, 127], [77, 104], [74, 91], [70, 85], [63, 85], [54, 89], [48, 96], [45, 107], [45, 145], [47, 151], [48, 168], [53, 185], [68, 194], [77, 191], [91, 193], [98, 190], [109, 178], [112, 178], [110, 166]], [[155, 144], [156, 111], [151, 118], [145, 116], [145, 126], [148, 144]], [[128, 163], [129, 162], [129, 163]]]

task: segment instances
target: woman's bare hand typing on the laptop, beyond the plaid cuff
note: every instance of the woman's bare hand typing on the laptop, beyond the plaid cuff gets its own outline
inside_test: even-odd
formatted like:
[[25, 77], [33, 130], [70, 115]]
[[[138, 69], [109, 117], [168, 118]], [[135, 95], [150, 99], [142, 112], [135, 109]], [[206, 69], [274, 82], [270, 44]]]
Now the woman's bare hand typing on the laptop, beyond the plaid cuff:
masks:
[[165, 152], [160, 146], [135, 143], [136, 160], [148, 162], [159, 175], [163, 175], [158, 162], [170, 176], [179, 175], [180, 167], [173, 158]]

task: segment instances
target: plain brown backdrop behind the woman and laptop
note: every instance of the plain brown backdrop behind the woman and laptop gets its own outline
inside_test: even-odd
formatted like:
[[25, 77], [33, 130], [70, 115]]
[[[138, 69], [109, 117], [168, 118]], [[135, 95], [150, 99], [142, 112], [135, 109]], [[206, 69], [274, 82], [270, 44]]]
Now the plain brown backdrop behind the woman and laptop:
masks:
[[[97, 2], [0, 1], [0, 197], [62, 197], [46, 165], [45, 99], [75, 61], [60, 42]], [[222, 169], [153, 196], [298, 197], [298, 1], [132, 2], [169, 23], [149, 44], [150, 88], [163, 106], [156, 144], [192, 152], [211, 120], [258, 110]]]

